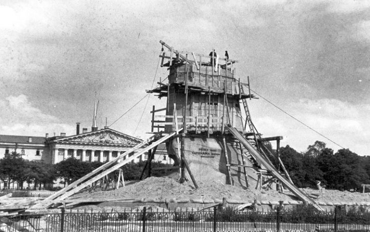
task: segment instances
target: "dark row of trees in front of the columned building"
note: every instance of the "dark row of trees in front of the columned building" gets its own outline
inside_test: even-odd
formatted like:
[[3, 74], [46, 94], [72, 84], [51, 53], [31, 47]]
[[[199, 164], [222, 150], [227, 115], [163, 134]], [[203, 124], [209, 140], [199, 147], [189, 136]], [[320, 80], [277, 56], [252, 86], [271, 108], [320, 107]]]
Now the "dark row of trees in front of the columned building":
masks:
[[[14, 183], [17, 183], [17, 189], [24, 189], [24, 183], [27, 184], [27, 188], [33, 185], [33, 189], [41, 189], [42, 186], [47, 189], [48, 186], [52, 186], [58, 179], [61, 184], [70, 184], [102, 164], [101, 162], [89, 163], [75, 158], [68, 158], [52, 165], [27, 161], [22, 159], [20, 154], [12, 152], [5, 154], [5, 157], [0, 159], [0, 180], [4, 183], [4, 188], [8, 189]], [[139, 180], [144, 165], [144, 161], [124, 165], [121, 169], [123, 170], [125, 180]], [[168, 165], [154, 162], [151, 166], [155, 168]], [[151, 173], [152, 176], [161, 176], [163, 174], [164, 171], [159, 170]]]

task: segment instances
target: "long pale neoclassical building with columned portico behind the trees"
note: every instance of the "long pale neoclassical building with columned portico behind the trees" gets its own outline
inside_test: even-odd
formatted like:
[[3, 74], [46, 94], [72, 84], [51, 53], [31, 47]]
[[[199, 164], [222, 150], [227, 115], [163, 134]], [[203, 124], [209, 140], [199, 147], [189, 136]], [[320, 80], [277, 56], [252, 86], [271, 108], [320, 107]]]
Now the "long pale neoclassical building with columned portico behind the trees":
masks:
[[[142, 140], [123, 134], [108, 127], [98, 130], [92, 127], [90, 132], [83, 128], [79, 133], [79, 123], [76, 126], [76, 135], [45, 137], [0, 135], [0, 159], [4, 154], [15, 151], [23, 159], [56, 164], [69, 157], [86, 162], [106, 162], [117, 157], [121, 152], [141, 143]], [[135, 151], [137, 152], [137, 151]], [[133, 154], [135, 153], [133, 152]], [[143, 154], [135, 159], [139, 162], [147, 159]], [[164, 145], [158, 146], [154, 161], [171, 164]]]

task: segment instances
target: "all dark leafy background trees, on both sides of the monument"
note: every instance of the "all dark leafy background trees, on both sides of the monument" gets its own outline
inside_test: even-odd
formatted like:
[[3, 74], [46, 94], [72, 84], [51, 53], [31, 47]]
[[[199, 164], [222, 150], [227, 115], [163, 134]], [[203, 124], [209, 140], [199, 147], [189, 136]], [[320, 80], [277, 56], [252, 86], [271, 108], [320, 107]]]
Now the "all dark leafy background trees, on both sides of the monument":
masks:
[[[324, 142], [316, 141], [304, 153], [289, 145], [281, 147], [280, 157], [294, 184], [300, 188], [315, 187], [316, 181], [321, 181], [328, 189], [357, 190], [361, 184], [370, 183], [370, 157], [358, 156], [349, 149], [334, 153]], [[100, 162], [88, 163], [74, 158], [51, 165], [23, 160], [13, 152], [0, 159], [0, 180], [8, 188], [11, 183], [18, 183], [18, 188], [23, 189], [23, 183], [27, 183], [28, 187], [33, 184], [34, 189], [41, 189], [42, 185], [46, 187], [57, 179], [62, 184], [70, 184], [100, 165]], [[139, 180], [144, 165], [144, 161], [124, 165], [125, 180]], [[152, 167], [161, 166], [166, 164], [152, 163]], [[165, 171], [151, 173], [152, 176], [164, 174]]]

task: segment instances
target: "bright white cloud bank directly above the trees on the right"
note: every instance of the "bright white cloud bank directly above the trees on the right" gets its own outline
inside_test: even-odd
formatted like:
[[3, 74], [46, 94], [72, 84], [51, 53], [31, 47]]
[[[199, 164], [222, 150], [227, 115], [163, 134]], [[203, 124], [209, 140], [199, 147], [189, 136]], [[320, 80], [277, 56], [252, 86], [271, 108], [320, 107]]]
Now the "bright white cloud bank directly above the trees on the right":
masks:
[[[359, 155], [370, 155], [370, 107], [351, 104], [335, 99], [301, 99], [283, 107], [289, 114], [309, 127], [325, 135], [339, 145]], [[337, 151], [341, 147], [310, 130], [291, 117], [279, 113], [254, 118], [255, 125], [264, 136], [283, 135], [282, 146], [290, 145], [297, 151], [305, 151], [316, 140], [327, 143]]]

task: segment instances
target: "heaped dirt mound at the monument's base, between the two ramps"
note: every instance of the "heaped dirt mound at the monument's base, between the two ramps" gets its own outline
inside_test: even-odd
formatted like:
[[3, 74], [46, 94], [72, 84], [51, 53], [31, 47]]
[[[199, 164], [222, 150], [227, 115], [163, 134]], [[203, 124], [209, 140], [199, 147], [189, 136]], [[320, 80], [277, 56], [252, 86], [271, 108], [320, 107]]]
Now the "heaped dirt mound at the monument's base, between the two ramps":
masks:
[[140, 182], [127, 183], [125, 187], [118, 190], [96, 191], [88, 195], [82, 193], [79, 197], [89, 200], [111, 200], [111, 199], [202, 199], [203, 202], [209, 200], [222, 200], [226, 197], [239, 202], [253, 202], [254, 199], [260, 201], [280, 201], [292, 200], [291, 195], [279, 193], [275, 190], [254, 190], [244, 189], [239, 186], [225, 185], [221, 181], [210, 181], [198, 183], [199, 189], [195, 189], [191, 182], [184, 184], [166, 177], [150, 177]]

